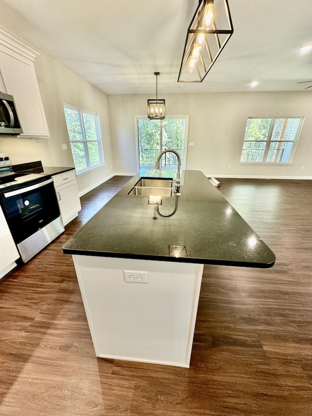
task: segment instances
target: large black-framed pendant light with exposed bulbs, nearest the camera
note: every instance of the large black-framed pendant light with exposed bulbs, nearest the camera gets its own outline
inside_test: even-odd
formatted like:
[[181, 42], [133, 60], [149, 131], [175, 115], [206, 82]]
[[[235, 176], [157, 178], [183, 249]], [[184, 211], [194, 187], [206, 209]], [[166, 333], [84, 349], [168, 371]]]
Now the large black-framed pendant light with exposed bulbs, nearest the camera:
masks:
[[187, 31], [178, 82], [202, 82], [233, 34], [228, 0], [199, 0]]

